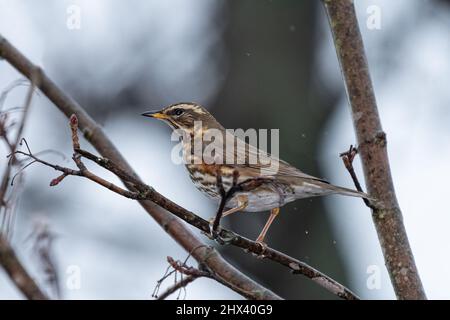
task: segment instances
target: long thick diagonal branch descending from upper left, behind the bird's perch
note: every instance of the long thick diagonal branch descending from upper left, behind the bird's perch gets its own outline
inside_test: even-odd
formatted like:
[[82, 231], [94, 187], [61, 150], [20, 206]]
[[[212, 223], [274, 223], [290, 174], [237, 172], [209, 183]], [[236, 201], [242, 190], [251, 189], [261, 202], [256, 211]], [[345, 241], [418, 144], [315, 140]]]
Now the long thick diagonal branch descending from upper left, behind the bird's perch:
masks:
[[[14, 68], [28, 79], [33, 71], [37, 69], [19, 50], [13, 47], [2, 35], [0, 35], [0, 57], [8, 61]], [[79, 127], [84, 137], [104, 157], [114, 161], [120, 168], [135, 179], [140, 180], [133, 168], [127, 163], [101, 127], [86, 113], [86, 111], [72, 98], [67, 96], [47, 75], [41, 71], [39, 89], [52, 101], [55, 106], [67, 117], [76, 114]], [[124, 182], [130, 191], [136, 191], [132, 184]], [[161, 201], [170, 201], [164, 197]], [[152, 201], [140, 201], [141, 206], [151, 215], [155, 221], [187, 252], [196, 247], [204, 245], [184, 224], [163, 208], [155, 205]], [[272, 291], [261, 286], [254, 280], [244, 275], [227, 262], [215, 249], [202, 248], [196, 250], [193, 257], [199, 262], [207, 265], [216, 274], [222, 275], [229, 283], [234, 284], [248, 292], [254, 292], [253, 299], [281, 299]]]

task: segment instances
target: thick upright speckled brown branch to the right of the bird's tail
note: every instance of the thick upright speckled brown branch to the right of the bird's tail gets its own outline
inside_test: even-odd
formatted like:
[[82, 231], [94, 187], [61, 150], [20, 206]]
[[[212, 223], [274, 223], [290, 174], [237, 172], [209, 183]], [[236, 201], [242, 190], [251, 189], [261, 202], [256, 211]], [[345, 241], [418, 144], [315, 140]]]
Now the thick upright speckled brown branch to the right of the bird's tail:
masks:
[[350, 101], [372, 217], [398, 299], [426, 299], [395, 196], [375, 94], [353, 1], [323, 0]]

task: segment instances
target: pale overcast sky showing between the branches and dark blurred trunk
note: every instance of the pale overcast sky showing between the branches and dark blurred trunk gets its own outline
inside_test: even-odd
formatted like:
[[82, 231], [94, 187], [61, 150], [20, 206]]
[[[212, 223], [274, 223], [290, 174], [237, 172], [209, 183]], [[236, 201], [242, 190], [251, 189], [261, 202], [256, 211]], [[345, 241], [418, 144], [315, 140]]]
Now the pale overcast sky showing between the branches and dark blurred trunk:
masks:
[[[126, 4], [114, 1], [113, 5], [106, 0], [47, 3], [44, 7], [37, 1], [0, 0], [0, 32], [32, 61], [42, 65], [58, 83], [106, 95], [111, 90], [120, 92], [125, 83], [139, 74], [140, 81], [155, 86], [148, 91], [162, 104], [186, 100], [187, 96], [188, 100], [207, 102], [222, 83], [224, 70], [220, 66], [226, 54], [209, 54], [213, 46], [220, 48], [223, 42], [223, 24], [215, 20], [218, 10], [224, 8], [222, 1], [172, 0], [170, 4], [166, 1], [128, 1]], [[81, 29], [77, 31], [67, 28], [66, 10], [74, 3], [82, 10]], [[448, 299], [450, 253], [446, 244], [450, 243], [447, 231], [450, 214], [446, 205], [449, 192], [446, 183], [450, 181], [450, 11], [430, 12], [425, 10], [427, 2], [420, 0], [360, 0], [356, 5], [380, 115], [387, 132], [395, 187], [419, 272], [429, 298]], [[370, 5], [381, 10], [379, 30], [369, 30], [365, 25], [366, 9]], [[174, 7], [177, 10], [173, 10]], [[124, 17], [133, 18], [124, 23]], [[323, 14], [321, 19], [323, 37], [318, 69], [330, 85], [338, 86], [342, 80], [336, 54]], [[151, 42], [142, 41], [146, 33], [159, 36], [152, 37]], [[398, 33], [402, 36], [396, 37]], [[392, 39], [396, 39], [395, 43]], [[135, 50], [136, 46], [139, 50]], [[71, 50], [67, 50], [68, 47]], [[136, 52], [142, 56], [134, 56]], [[105, 56], [107, 63], [104, 63]], [[142, 72], [145, 69], [142, 61], [157, 66], [152, 74]], [[208, 68], [202, 68], [205, 61]], [[190, 76], [192, 70], [200, 70], [195, 78]], [[0, 88], [17, 78], [18, 74], [11, 67], [0, 64]], [[104, 79], [110, 80], [108, 90], [98, 85]], [[178, 86], [180, 82], [184, 85]], [[183, 89], [173, 89], [178, 87]], [[21, 105], [26, 90], [13, 91], [6, 105]], [[336, 155], [348, 147], [349, 141], [355, 141], [347, 100], [342, 99], [340, 104], [323, 136], [321, 165], [333, 183], [351, 186], [345, 170], [336, 170], [342, 167]], [[128, 139], [123, 134], [125, 130], [136, 138]], [[206, 218], [214, 211], [213, 204], [192, 188], [184, 168], [168, 166], [171, 144], [163, 138], [167, 131], [147, 126], [131, 116], [105, 121], [105, 131], [119, 150], [129, 155], [131, 164], [145, 181], [162, 194], [203, 213]], [[70, 153], [66, 119], [55, 112], [42, 95], [33, 102], [25, 135], [35, 150], [58, 146], [59, 150]], [[146, 144], [158, 148], [158, 152], [141, 147]], [[3, 157], [6, 150], [1, 149], [1, 152]], [[0, 166], [4, 164], [1, 162]], [[362, 180], [359, 161], [356, 166]], [[109, 191], [76, 178], [64, 181], [58, 188], [46, 188], [52, 178], [54, 172], [46, 168], [35, 167], [27, 174], [24, 191], [27, 198], [19, 203], [13, 240], [21, 248], [19, 254], [27, 266], [39, 274], [30, 245], [24, 241], [34, 221], [30, 217], [50, 223], [57, 233], [54, 255], [63, 278], [64, 298], [150, 298], [156, 281], [166, 269], [166, 256], [176, 259], [186, 256], [159, 226], [149, 223], [137, 203], [111, 196]], [[177, 181], [177, 188], [172, 181]], [[34, 207], [33, 201], [40, 197], [55, 203]], [[350, 261], [349, 286], [363, 298], [394, 298], [367, 208], [347, 198], [333, 198], [328, 204], [332, 207], [329, 211], [334, 221], [336, 247]], [[81, 270], [82, 285], [80, 289], [70, 290], [65, 284], [74, 266]], [[381, 287], [370, 290], [366, 286], [368, 270], [374, 272], [377, 268]], [[0, 298], [21, 297], [2, 272], [0, 283]], [[239, 296], [213, 281], [200, 280], [190, 285], [188, 298]]]

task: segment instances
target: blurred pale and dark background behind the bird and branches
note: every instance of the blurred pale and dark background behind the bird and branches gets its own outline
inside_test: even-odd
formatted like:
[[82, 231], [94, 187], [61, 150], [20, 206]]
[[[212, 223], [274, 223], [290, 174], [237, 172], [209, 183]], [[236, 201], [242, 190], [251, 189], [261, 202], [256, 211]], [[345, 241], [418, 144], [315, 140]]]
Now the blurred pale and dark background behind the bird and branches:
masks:
[[[419, 272], [429, 298], [448, 299], [450, 3], [355, 4]], [[379, 13], [375, 27], [374, 13]], [[140, 117], [141, 112], [195, 101], [226, 128], [278, 128], [281, 158], [353, 187], [338, 154], [355, 143], [355, 135], [320, 1], [49, 0], [43, 5], [0, 0], [0, 33], [104, 127], [147, 183], [204, 218], [215, 213], [216, 204], [193, 187], [184, 167], [170, 161], [169, 128]], [[0, 89], [20, 78], [0, 61]], [[22, 106], [27, 90], [11, 90], [3, 109]], [[53, 149], [70, 157], [67, 119], [42, 94], [35, 95], [28, 119], [24, 136], [33, 151]], [[82, 146], [89, 148], [83, 141]], [[0, 148], [3, 170], [7, 149]], [[68, 158], [46, 156], [72, 166]], [[359, 160], [355, 164], [362, 180]], [[36, 234], [44, 228], [53, 239], [60, 297], [151, 299], [167, 268], [166, 256], [182, 260], [186, 252], [137, 203], [75, 177], [50, 188], [55, 176], [40, 165], [28, 168], [14, 209], [11, 242], [33, 276], [57, 295], [36, 254]], [[256, 238], [267, 215], [235, 214], [223, 223]], [[362, 298], [394, 298], [370, 212], [358, 199], [291, 203], [267, 242]], [[284, 298], [335, 299], [275, 263], [233, 247], [218, 249]], [[78, 285], [73, 285], [74, 273], [80, 276]], [[22, 298], [3, 270], [0, 298]], [[227, 298], [240, 296], [207, 279], [195, 281], [186, 293], [186, 299]]]

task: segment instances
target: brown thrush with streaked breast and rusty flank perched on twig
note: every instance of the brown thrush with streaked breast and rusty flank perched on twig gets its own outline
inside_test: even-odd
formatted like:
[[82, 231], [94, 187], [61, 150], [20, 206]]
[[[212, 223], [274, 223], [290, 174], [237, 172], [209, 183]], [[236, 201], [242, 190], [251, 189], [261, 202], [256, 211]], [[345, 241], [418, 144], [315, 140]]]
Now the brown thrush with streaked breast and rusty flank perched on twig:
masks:
[[228, 191], [234, 191], [228, 193], [223, 216], [238, 211], [270, 210], [257, 242], [263, 243], [279, 208], [286, 203], [329, 194], [367, 198], [363, 192], [310, 176], [246, 143], [198, 104], [177, 103], [142, 115], [162, 120], [179, 131], [184, 163], [201, 192], [220, 201]]

